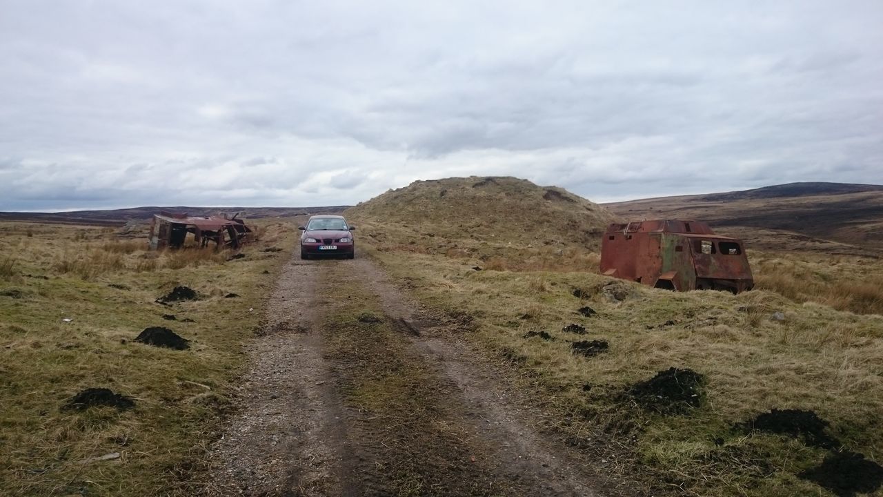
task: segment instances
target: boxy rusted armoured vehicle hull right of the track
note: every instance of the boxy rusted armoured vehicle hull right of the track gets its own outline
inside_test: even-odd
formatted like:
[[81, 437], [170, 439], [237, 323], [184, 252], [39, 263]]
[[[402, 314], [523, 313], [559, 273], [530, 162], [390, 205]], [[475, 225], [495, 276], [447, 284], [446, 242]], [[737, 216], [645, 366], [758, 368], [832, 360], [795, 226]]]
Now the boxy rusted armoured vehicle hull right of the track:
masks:
[[601, 241], [601, 273], [670, 290], [751, 290], [743, 243], [698, 221], [612, 224]]

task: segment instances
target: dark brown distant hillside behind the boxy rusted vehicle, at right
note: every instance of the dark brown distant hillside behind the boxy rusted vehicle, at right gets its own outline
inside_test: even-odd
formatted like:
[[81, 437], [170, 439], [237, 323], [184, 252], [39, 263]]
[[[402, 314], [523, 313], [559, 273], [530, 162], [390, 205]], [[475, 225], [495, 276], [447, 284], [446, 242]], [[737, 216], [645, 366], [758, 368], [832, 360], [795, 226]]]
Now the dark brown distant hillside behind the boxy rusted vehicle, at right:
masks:
[[689, 218], [758, 248], [883, 254], [883, 186], [789, 183], [604, 204], [629, 219]]

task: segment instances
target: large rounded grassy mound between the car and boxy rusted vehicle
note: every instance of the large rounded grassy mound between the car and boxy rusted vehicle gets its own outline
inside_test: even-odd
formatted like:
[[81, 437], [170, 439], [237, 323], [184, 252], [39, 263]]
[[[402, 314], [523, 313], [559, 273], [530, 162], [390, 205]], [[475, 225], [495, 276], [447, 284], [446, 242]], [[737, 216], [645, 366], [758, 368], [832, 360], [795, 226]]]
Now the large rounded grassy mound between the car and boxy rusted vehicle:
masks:
[[560, 187], [476, 176], [415, 181], [345, 214], [381, 251], [441, 254], [509, 271], [597, 267], [601, 233], [618, 219]]

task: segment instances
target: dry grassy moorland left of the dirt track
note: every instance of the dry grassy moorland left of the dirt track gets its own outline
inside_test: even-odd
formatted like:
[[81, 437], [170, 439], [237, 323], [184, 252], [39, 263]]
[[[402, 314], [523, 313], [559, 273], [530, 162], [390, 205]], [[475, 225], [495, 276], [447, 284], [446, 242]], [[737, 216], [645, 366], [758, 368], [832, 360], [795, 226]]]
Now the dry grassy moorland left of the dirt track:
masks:
[[[192, 494], [294, 245], [293, 226], [260, 232], [231, 259], [148, 252], [113, 228], [0, 224], [0, 494]], [[180, 286], [197, 299], [155, 302]], [[189, 349], [133, 341], [150, 326]], [[117, 407], [72, 405], [87, 388]]]

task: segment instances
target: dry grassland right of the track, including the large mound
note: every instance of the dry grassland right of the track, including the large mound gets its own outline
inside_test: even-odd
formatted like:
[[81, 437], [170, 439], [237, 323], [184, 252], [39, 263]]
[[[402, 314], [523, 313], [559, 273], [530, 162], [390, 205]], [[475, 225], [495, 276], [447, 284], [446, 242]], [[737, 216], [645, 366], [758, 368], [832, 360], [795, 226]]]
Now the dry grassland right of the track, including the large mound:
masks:
[[[507, 179], [484, 194], [506, 209], [486, 216], [487, 200], [468, 201], [479, 180], [419, 182], [347, 216], [363, 253], [427, 306], [468, 322], [464, 336], [558, 414], [550, 432], [607, 452], [612, 471], [643, 475], [659, 493], [880, 494], [879, 260], [751, 253], [758, 289], [671, 293], [597, 274], [597, 242], [569, 237], [576, 228], [555, 217], [554, 200], [514, 193]], [[444, 203], [452, 190], [462, 199]], [[396, 203], [396, 193], [423, 202]], [[546, 224], [507, 231], [528, 218]], [[579, 229], [597, 232], [608, 218], [595, 211], [595, 226]], [[434, 236], [459, 219], [485, 231]], [[690, 395], [645, 394], [669, 368], [695, 380]]]

